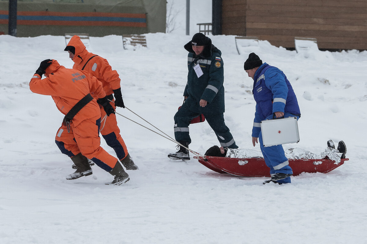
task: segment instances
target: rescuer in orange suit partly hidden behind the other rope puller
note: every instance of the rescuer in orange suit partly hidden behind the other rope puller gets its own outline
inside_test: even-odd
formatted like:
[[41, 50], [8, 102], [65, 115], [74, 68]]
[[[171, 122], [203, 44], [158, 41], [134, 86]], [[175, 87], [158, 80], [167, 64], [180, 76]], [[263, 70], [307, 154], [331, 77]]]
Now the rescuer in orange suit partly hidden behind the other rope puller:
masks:
[[[74, 35], [64, 51], [69, 52], [70, 59], [73, 60], [73, 68], [87, 71], [90, 75], [95, 76], [102, 82], [103, 90], [107, 98], [111, 100], [112, 106], [125, 108], [124, 101], [121, 95], [121, 86], [119, 74], [116, 70], [112, 70], [111, 65], [106, 59], [88, 52], [80, 37]], [[115, 100], [112, 93], [115, 95]], [[94, 94], [93, 98], [98, 99]], [[136, 170], [138, 166], [132, 161], [124, 140], [120, 135], [120, 129], [117, 126], [116, 115], [106, 116], [105, 111], [101, 108], [101, 135], [106, 140], [108, 146], [115, 150], [117, 157], [127, 170]]]

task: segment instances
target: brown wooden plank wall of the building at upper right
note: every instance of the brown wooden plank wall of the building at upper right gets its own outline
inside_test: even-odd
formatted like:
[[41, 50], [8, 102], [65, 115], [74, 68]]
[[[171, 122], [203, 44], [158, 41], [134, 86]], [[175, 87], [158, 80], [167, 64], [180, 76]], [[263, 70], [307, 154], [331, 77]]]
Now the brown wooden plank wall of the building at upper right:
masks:
[[320, 49], [367, 50], [367, 0], [223, 0], [222, 34], [285, 48], [313, 37]]

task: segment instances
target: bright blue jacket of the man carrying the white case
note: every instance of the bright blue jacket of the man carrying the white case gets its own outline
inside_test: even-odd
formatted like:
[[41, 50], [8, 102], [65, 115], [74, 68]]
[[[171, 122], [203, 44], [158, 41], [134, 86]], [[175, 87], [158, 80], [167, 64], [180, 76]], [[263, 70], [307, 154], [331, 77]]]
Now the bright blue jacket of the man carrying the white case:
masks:
[[260, 122], [269, 119], [275, 112], [301, 116], [291, 83], [279, 68], [262, 64], [255, 72], [252, 93], [256, 101], [252, 137], [259, 136]]

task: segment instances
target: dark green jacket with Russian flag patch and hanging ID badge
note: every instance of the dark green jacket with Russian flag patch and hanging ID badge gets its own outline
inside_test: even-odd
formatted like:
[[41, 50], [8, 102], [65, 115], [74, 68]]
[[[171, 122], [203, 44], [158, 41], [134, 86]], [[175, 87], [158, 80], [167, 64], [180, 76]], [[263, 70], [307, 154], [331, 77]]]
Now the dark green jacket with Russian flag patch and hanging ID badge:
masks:
[[[188, 102], [190, 110], [197, 113], [224, 113], [222, 52], [211, 44], [210, 38], [208, 38], [208, 44], [199, 56], [196, 56], [192, 50], [191, 42], [187, 43], [184, 48], [189, 52], [189, 73], [185, 91], [183, 92], [184, 96], [188, 96], [185, 103]], [[197, 78], [193, 68], [195, 64], [199, 64], [204, 73], [199, 78]], [[201, 99], [208, 102], [204, 108], [199, 106]]]

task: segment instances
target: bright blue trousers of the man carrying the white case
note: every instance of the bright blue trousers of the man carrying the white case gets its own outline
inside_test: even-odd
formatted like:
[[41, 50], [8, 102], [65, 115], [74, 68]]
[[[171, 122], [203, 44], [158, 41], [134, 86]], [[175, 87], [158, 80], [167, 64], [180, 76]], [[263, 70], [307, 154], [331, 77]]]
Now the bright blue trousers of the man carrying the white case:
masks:
[[[297, 117], [298, 116], [292, 115], [291, 113], [284, 113], [284, 118], [286, 117]], [[267, 117], [266, 119], [272, 119], [273, 115]], [[288, 159], [284, 154], [284, 149], [282, 145], [275, 145], [270, 147], [264, 147], [262, 143], [262, 133], [259, 134], [259, 143], [262, 155], [264, 156], [266, 166], [270, 168], [270, 175], [275, 173], [285, 173], [285, 174], [292, 174], [292, 169], [288, 164]], [[287, 177], [283, 180], [278, 180], [278, 183], [291, 183], [291, 178]]]

